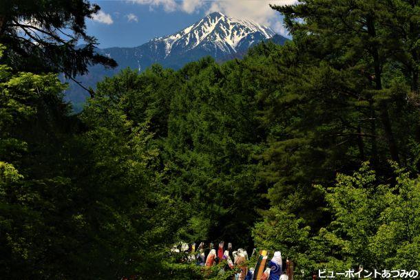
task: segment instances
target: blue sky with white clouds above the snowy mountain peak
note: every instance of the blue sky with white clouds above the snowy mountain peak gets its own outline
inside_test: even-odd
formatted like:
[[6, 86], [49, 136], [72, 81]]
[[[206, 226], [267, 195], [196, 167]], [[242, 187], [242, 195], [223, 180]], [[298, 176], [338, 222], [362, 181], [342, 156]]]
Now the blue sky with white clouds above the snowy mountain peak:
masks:
[[87, 32], [98, 39], [99, 47], [135, 47], [167, 34], [178, 32], [209, 12], [247, 18], [268, 25], [286, 35], [280, 14], [269, 4], [294, 0], [114, 0], [94, 1], [101, 11], [87, 21]]

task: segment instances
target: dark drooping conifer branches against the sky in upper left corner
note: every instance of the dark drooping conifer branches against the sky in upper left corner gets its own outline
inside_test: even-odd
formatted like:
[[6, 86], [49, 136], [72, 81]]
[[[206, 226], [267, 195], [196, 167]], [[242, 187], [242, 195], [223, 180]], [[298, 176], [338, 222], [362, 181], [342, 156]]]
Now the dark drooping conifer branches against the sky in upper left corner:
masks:
[[[96, 39], [86, 33], [85, 19], [99, 6], [89, 1], [14, 1], [0, 8], [0, 43], [14, 70], [85, 74], [87, 66], [116, 67], [112, 58], [95, 53]], [[78, 45], [83, 41], [83, 45]]]

